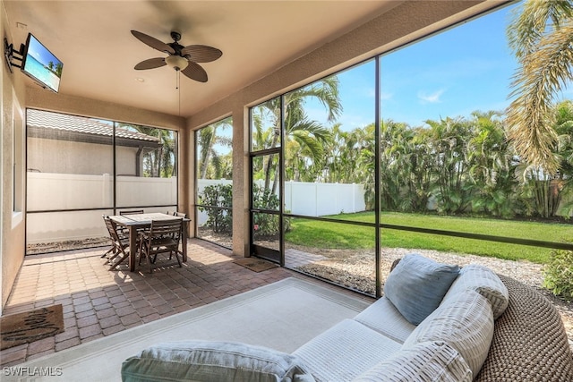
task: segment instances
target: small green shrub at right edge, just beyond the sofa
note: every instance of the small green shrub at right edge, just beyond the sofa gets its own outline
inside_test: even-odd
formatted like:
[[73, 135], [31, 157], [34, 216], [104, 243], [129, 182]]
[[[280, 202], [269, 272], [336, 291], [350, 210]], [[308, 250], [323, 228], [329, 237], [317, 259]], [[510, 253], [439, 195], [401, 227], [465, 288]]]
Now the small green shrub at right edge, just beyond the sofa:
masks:
[[553, 250], [543, 276], [545, 288], [566, 301], [573, 301], [573, 250]]

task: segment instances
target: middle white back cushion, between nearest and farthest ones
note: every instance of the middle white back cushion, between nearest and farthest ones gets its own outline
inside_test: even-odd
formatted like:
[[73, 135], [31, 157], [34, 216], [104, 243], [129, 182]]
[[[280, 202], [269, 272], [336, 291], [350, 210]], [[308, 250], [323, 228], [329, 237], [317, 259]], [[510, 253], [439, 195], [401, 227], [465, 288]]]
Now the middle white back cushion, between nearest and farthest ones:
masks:
[[402, 349], [426, 341], [445, 341], [459, 352], [477, 376], [490, 350], [492, 337], [490, 303], [481, 294], [469, 290], [444, 301], [406, 338]]

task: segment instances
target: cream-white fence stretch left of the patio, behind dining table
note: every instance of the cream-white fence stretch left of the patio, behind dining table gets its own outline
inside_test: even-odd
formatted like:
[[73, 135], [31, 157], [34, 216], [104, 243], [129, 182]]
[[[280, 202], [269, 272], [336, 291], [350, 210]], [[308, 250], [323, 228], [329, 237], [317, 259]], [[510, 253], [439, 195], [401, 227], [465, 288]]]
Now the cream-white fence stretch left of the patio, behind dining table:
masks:
[[[113, 177], [78, 174], [28, 174], [28, 211], [107, 208], [113, 204]], [[118, 176], [117, 206], [177, 205], [177, 179]], [[145, 208], [145, 212], [166, 212], [167, 208]], [[57, 211], [27, 214], [28, 243], [62, 242], [107, 236], [102, 215], [112, 209]]]

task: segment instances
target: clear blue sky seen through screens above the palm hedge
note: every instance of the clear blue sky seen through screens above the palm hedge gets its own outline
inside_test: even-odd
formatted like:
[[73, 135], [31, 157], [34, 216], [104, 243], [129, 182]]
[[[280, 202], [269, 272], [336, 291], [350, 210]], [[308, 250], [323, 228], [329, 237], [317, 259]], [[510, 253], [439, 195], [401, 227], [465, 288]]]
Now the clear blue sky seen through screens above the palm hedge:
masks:
[[[411, 126], [440, 117], [470, 117], [509, 106], [509, 83], [517, 67], [509, 50], [509, 12], [481, 18], [381, 56], [382, 119]], [[372, 123], [374, 63], [338, 74], [345, 130]], [[307, 103], [308, 115], [324, 121], [323, 107]]]

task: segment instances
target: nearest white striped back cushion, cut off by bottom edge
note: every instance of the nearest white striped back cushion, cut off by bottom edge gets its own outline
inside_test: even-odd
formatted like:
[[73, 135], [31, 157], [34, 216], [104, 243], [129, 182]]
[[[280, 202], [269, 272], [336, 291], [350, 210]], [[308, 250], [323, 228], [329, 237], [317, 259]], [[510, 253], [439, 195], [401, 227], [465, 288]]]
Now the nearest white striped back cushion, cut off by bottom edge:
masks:
[[364, 372], [354, 382], [471, 382], [472, 370], [443, 341], [415, 344]]

